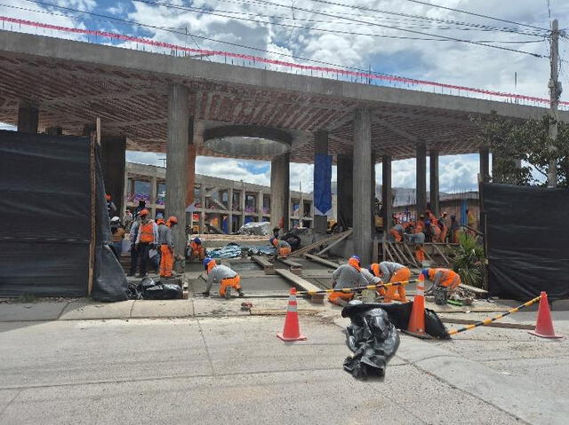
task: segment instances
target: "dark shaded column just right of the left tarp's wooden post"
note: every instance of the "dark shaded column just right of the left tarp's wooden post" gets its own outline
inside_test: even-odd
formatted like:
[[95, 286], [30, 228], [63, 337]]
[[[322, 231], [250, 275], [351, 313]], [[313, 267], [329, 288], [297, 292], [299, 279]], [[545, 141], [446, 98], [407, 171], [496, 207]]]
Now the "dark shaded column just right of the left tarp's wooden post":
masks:
[[100, 165], [103, 171], [105, 192], [110, 193], [115, 202], [116, 211], [123, 210], [124, 199], [124, 168], [125, 168], [126, 138], [103, 136], [100, 138]]

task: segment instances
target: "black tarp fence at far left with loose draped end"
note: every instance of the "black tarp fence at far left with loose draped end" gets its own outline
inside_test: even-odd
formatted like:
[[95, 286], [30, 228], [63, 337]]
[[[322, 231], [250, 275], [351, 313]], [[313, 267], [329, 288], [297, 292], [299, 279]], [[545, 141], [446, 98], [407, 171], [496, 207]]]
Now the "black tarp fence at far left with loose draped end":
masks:
[[[88, 295], [91, 243], [88, 138], [0, 130], [0, 296]], [[126, 299], [108, 248], [110, 229], [95, 153], [96, 234], [92, 297]]]

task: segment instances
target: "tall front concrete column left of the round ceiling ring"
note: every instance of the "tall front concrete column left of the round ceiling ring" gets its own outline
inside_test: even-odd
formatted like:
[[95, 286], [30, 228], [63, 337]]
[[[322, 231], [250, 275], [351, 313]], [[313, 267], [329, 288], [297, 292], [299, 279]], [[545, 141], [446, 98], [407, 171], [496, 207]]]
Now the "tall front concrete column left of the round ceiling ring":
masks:
[[173, 229], [176, 255], [186, 246], [186, 197], [188, 196], [189, 105], [188, 88], [180, 84], [168, 87], [168, 140], [166, 143], [165, 216], [176, 216]]

